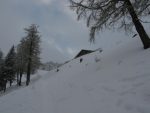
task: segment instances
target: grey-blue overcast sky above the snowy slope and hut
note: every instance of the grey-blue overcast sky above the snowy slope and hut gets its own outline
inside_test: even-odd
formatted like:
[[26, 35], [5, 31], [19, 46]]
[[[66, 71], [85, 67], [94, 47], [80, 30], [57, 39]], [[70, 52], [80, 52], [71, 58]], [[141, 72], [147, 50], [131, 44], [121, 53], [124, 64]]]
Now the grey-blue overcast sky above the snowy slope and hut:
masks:
[[6, 54], [25, 36], [24, 28], [39, 25], [43, 62], [64, 62], [81, 49], [109, 49], [131, 39], [121, 31], [100, 32], [89, 43], [86, 21], [77, 21], [68, 0], [0, 0], [0, 48]]

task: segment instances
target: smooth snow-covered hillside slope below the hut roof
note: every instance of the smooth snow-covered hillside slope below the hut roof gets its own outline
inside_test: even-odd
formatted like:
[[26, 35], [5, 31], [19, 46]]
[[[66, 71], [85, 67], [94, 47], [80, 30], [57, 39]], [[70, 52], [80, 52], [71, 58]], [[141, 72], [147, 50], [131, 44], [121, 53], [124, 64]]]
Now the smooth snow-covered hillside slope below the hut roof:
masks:
[[0, 113], [150, 113], [150, 49], [132, 40], [0, 97]]

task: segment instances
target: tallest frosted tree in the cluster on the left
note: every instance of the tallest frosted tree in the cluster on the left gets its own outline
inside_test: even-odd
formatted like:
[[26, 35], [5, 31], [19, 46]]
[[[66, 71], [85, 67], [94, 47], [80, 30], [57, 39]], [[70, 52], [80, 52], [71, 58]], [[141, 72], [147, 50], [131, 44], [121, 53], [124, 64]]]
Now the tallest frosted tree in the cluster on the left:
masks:
[[27, 80], [26, 85], [29, 85], [30, 74], [35, 72], [40, 66], [40, 35], [37, 30], [38, 26], [32, 24], [25, 28], [27, 36], [25, 37], [25, 51], [27, 57]]

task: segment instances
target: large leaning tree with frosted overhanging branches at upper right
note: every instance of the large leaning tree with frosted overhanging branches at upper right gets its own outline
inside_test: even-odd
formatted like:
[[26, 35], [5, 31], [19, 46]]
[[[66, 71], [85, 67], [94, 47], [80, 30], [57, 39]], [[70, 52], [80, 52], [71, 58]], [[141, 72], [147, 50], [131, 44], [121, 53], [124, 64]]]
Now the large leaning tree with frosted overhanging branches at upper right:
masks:
[[150, 15], [150, 0], [70, 0], [70, 7], [76, 11], [78, 19], [86, 18], [90, 27], [90, 41], [103, 28], [124, 28], [135, 26], [144, 49], [150, 47], [150, 39], [142, 22], [143, 16]]

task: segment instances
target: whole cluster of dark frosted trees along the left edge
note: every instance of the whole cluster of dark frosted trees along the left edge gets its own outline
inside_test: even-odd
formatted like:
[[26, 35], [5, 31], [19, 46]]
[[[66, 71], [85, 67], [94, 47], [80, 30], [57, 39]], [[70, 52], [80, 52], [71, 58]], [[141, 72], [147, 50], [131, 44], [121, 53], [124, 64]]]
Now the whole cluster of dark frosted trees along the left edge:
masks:
[[0, 50], [0, 90], [5, 92], [6, 85], [10, 87], [14, 81], [21, 86], [22, 76], [26, 74], [26, 85], [30, 83], [30, 75], [40, 66], [40, 34], [38, 26], [32, 24], [24, 29], [26, 36], [17, 46], [12, 46], [4, 57]]

